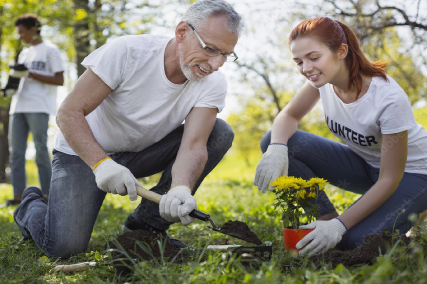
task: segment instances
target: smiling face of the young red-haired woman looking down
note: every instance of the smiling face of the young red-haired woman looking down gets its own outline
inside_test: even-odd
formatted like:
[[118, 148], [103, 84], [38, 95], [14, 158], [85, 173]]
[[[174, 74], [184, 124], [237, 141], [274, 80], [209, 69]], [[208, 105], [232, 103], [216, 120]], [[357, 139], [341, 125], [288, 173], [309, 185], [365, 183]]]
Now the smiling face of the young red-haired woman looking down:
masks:
[[[313, 37], [298, 37], [290, 44], [293, 60], [299, 72], [317, 88], [334, 83], [344, 75], [344, 58], [340, 51], [332, 52], [324, 43]], [[341, 60], [342, 59], [342, 60]]]

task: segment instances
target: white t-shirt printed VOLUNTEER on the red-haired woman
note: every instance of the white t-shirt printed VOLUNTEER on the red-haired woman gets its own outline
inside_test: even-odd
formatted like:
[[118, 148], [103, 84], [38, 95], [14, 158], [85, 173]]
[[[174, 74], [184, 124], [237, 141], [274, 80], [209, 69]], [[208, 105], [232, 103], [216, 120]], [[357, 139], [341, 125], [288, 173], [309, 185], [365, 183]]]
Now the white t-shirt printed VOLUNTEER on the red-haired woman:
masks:
[[326, 124], [353, 152], [377, 168], [382, 135], [408, 130], [405, 172], [427, 175], [427, 132], [415, 122], [404, 90], [392, 77], [387, 78], [389, 82], [373, 77], [366, 94], [353, 103], [343, 103], [329, 83], [320, 87]]

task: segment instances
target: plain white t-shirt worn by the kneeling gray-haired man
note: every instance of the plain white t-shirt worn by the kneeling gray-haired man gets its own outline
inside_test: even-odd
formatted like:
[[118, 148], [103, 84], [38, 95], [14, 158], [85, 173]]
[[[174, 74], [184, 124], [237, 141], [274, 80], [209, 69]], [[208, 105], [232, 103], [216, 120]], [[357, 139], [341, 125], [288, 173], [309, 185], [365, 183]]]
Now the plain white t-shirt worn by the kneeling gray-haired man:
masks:
[[[225, 106], [227, 81], [214, 72], [200, 82], [170, 82], [164, 70], [169, 37], [129, 35], [101, 46], [83, 60], [113, 91], [86, 120], [107, 154], [139, 152], [160, 141], [193, 107]], [[90, 94], [88, 100], [90, 100]], [[58, 132], [55, 149], [77, 155]]]

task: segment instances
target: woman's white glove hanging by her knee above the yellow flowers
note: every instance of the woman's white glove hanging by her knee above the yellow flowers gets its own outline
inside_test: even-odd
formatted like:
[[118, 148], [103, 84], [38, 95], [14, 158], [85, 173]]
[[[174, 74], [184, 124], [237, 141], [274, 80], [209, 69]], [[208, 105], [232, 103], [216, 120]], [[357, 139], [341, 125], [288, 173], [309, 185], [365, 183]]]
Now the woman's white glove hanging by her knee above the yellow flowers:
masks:
[[288, 146], [270, 144], [255, 170], [254, 185], [258, 186], [258, 190], [262, 193], [267, 192], [267, 188], [273, 190], [273, 186], [269, 186], [269, 183], [282, 175], [287, 176], [288, 166]]

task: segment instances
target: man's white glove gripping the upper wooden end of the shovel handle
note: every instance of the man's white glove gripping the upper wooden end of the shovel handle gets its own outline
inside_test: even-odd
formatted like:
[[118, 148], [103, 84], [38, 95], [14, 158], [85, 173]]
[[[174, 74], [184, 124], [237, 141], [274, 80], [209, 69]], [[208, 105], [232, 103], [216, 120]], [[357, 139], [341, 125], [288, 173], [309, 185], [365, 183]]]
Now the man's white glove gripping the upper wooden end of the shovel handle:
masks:
[[[94, 166], [95, 181], [100, 189], [112, 194], [129, 195], [129, 200], [137, 199], [136, 185], [141, 186], [132, 172], [107, 158]], [[142, 187], [142, 186], [141, 186]]]

